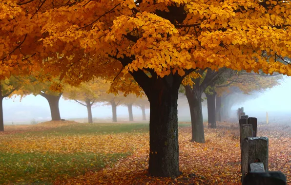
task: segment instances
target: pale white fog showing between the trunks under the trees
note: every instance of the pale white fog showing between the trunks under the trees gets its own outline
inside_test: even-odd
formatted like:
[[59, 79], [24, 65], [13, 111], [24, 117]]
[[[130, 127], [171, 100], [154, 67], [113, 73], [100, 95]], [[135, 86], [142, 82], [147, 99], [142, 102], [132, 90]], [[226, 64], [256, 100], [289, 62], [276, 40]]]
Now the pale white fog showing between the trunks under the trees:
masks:
[[[284, 122], [291, 123], [291, 77], [285, 76], [281, 85], [265, 92], [259, 93], [256, 98], [249, 99], [232, 107], [232, 117], [236, 117], [236, 109], [244, 107], [249, 117], [257, 117], [259, 122], [266, 121], [266, 111], [269, 113], [270, 123]], [[205, 104], [205, 102], [203, 103]], [[73, 100], [60, 99], [59, 103], [61, 117], [63, 119], [86, 122], [87, 109]], [[4, 124], [30, 124], [33, 121], [43, 122], [51, 119], [48, 102], [42, 96], [28, 95], [20, 101], [20, 97], [3, 100]], [[92, 108], [94, 121], [110, 122], [112, 117], [111, 106], [96, 104]], [[190, 121], [190, 112], [186, 97], [178, 100], [179, 121]], [[142, 120], [142, 111], [133, 107], [133, 115], [136, 122]], [[147, 120], [149, 110], [146, 109]], [[207, 107], [203, 106], [203, 117], [207, 120]], [[128, 120], [127, 107], [117, 107], [118, 121]]]

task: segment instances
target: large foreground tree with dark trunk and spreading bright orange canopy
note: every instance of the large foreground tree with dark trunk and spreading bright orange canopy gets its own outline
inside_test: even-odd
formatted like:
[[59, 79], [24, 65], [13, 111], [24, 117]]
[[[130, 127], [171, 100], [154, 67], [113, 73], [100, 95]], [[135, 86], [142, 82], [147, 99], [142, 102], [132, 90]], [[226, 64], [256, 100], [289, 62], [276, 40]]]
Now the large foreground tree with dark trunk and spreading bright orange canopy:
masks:
[[187, 74], [228, 67], [291, 75], [277, 62], [290, 55], [288, 1], [1, 0], [0, 8], [0, 79], [40, 68], [71, 84], [135, 79], [150, 102], [154, 176], [179, 175], [177, 99]]

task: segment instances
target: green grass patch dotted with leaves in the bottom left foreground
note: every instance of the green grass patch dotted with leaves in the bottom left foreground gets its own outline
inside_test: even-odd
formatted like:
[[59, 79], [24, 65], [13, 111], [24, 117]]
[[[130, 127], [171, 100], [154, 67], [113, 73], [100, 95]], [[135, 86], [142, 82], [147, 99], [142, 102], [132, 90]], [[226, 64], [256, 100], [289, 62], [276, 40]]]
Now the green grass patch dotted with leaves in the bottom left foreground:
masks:
[[37, 154], [0, 152], [0, 184], [52, 184], [58, 178], [68, 178], [96, 171], [106, 164], [113, 164], [128, 153], [73, 153]]

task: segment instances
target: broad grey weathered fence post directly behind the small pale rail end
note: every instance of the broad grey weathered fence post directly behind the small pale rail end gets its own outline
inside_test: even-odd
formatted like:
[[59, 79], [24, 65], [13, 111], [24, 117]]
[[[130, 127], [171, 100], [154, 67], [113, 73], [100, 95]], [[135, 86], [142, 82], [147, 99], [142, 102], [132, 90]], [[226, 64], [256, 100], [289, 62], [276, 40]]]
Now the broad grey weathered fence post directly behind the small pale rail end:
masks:
[[250, 172], [251, 163], [263, 163], [268, 171], [268, 137], [248, 137], [242, 142], [242, 179]]

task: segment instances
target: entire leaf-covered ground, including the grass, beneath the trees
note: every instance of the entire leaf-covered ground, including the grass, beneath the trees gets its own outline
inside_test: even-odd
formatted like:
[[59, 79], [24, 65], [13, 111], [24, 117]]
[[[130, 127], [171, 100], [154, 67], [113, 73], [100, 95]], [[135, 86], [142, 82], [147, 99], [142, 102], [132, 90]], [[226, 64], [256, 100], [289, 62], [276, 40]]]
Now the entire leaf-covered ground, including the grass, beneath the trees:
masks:
[[[0, 133], [0, 184], [240, 184], [236, 124], [205, 129], [206, 143], [190, 142], [189, 124], [180, 124], [180, 170], [176, 179], [147, 175], [148, 124], [49, 122], [7, 126]], [[262, 125], [269, 137], [269, 169], [291, 184], [291, 127]]]

